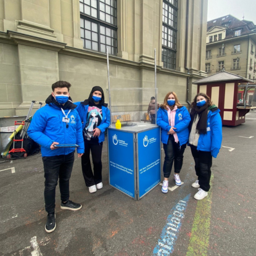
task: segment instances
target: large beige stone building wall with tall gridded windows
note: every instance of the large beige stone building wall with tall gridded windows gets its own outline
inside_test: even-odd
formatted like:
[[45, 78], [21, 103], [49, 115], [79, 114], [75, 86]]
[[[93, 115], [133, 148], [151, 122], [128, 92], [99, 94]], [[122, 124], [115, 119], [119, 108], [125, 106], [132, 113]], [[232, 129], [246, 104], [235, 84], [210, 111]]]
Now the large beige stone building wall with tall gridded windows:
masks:
[[[73, 101], [101, 86], [112, 111], [141, 118], [154, 93], [182, 104], [205, 76], [207, 0], [0, 0], [0, 117], [27, 113], [58, 80]], [[154, 95], [154, 94], [153, 94]]]

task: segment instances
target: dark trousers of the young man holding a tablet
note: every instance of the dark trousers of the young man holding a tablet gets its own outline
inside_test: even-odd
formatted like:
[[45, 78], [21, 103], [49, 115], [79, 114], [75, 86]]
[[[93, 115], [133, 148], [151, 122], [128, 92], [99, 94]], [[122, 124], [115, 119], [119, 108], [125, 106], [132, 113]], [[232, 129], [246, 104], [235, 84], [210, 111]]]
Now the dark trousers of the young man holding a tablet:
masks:
[[54, 213], [56, 186], [59, 179], [60, 199], [69, 199], [69, 180], [75, 157], [74, 152], [68, 155], [43, 157], [44, 164], [44, 202], [47, 213]]

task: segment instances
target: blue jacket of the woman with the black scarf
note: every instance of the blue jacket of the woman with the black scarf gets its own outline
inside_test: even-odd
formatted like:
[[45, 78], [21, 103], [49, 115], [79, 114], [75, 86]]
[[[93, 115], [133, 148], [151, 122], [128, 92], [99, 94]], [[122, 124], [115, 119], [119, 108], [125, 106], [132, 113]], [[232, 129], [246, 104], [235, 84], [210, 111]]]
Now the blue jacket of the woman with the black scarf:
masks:
[[209, 111], [207, 115], [207, 133], [200, 134], [197, 150], [211, 152], [213, 157], [217, 157], [220, 151], [222, 141], [222, 122], [220, 117], [220, 109], [212, 112]]

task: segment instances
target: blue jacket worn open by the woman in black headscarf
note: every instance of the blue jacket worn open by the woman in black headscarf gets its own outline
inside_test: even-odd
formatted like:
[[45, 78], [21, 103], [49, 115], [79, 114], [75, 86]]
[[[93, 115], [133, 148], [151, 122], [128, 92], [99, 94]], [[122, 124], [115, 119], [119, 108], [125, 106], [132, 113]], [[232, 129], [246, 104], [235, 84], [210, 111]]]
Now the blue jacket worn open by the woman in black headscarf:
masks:
[[[89, 107], [89, 101], [85, 101], [85, 102], [88, 102], [88, 104], [85, 105], [84, 102], [75, 102], [75, 105], [77, 105], [76, 111], [80, 115], [81, 122], [83, 122], [82, 130], [86, 126], [86, 117], [87, 117], [88, 107]], [[99, 134], [99, 143], [101, 143], [105, 140], [104, 131], [110, 125], [110, 111], [109, 111], [109, 109], [107, 107], [105, 107], [104, 105], [101, 106], [101, 109], [102, 109], [101, 125], [97, 126], [97, 128], [99, 128], [99, 130], [101, 130], [101, 134]]]

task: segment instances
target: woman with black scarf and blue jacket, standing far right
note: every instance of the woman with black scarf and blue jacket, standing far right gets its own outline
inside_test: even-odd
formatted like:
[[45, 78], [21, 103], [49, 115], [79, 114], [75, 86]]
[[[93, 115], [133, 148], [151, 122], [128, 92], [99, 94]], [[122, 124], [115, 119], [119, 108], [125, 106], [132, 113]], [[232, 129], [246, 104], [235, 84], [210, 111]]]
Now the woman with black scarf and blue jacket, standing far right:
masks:
[[199, 188], [194, 195], [197, 200], [208, 196], [212, 175], [212, 157], [217, 157], [222, 141], [220, 109], [210, 97], [198, 93], [191, 105], [189, 125], [189, 146], [195, 161], [196, 182], [192, 187]]

